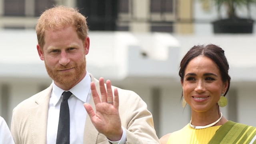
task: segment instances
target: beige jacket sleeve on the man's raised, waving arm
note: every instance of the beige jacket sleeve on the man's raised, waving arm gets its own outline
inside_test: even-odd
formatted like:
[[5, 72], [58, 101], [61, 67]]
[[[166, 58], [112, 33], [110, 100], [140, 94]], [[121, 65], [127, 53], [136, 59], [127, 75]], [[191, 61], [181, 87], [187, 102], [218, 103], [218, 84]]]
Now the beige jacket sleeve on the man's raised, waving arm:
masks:
[[118, 89], [118, 94], [120, 118], [126, 128], [126, 144], [160, 144], [152, 114], [142, 98], [129, 90]]

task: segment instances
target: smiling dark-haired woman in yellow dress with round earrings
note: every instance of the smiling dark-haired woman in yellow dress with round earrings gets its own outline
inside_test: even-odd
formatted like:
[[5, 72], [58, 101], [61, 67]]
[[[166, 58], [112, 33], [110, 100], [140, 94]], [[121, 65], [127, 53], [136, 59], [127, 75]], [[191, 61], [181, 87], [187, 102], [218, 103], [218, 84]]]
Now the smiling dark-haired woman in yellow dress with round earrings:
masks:
[[161, 144], [256, 144], [256, 128], [224, 118], [229, 64], [222, 48], [199, 45], [180, 62], [182, 106], [191, 108], [191, 120], [181, 130], [160, 138]]

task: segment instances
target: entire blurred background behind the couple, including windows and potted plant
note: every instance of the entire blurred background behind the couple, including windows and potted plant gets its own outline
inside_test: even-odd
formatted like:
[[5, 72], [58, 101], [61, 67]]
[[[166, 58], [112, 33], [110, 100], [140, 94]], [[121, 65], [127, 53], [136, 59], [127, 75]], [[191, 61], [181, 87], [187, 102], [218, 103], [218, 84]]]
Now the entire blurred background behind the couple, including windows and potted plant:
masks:
[[59, 4], [78, 7], [87, 17], [88, 72], [139, 94], [158, 137], [190, 121], [190, 108], [182, 108], [180, 100], [178, 69], [198, 44], [222, 47], [229, 61], [224, 116], [256, 126], [256, 2], [228, 1], [0, 0], [0, 115], [10, 126], [12, 109], [52, 82], [39, 59], [34, 29], [41, 12]]

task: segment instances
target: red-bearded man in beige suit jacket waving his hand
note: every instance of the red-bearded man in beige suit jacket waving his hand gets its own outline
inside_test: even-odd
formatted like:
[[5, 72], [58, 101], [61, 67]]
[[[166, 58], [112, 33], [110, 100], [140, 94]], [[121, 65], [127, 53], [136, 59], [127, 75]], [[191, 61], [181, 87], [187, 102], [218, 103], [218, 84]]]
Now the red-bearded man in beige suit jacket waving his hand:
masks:
[[[160, 143], [152, 114], [136, 93], [87, 72], [87, 32], [86, 18], [76, 8], [54, 6], [38, 19], [37, 50], [53, 82], [14, 108], [15, 143]], [[63, 113], [64, 107], [69, 112]]]

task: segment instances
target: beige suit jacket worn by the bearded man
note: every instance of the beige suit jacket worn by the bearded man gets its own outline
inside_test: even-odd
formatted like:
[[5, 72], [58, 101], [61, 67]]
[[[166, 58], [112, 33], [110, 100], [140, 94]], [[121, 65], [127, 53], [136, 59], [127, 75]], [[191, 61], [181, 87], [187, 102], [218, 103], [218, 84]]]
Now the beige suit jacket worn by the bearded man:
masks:
[[[91, 74], [98, 94], [99, 82]], [[114, 89], [115, 87], [112, 86]], [[18, 104], [12, 114], [11, 132], [15, 144], [46, 144], [46, 127], [48, 105], [52, 84]], [[119, 113], [122, 126], [126, 129], [126, 144], [159, 144], [154, 130], [152, 114], [147, 110], [146, 103], [130, 90], [118, 88]], [[93, 98], [90, 104], [95, 110]], [[84, 144], [109, 144], [106, 136], [94, 128], [89, 116], [86, 116], [84, 128]]]

